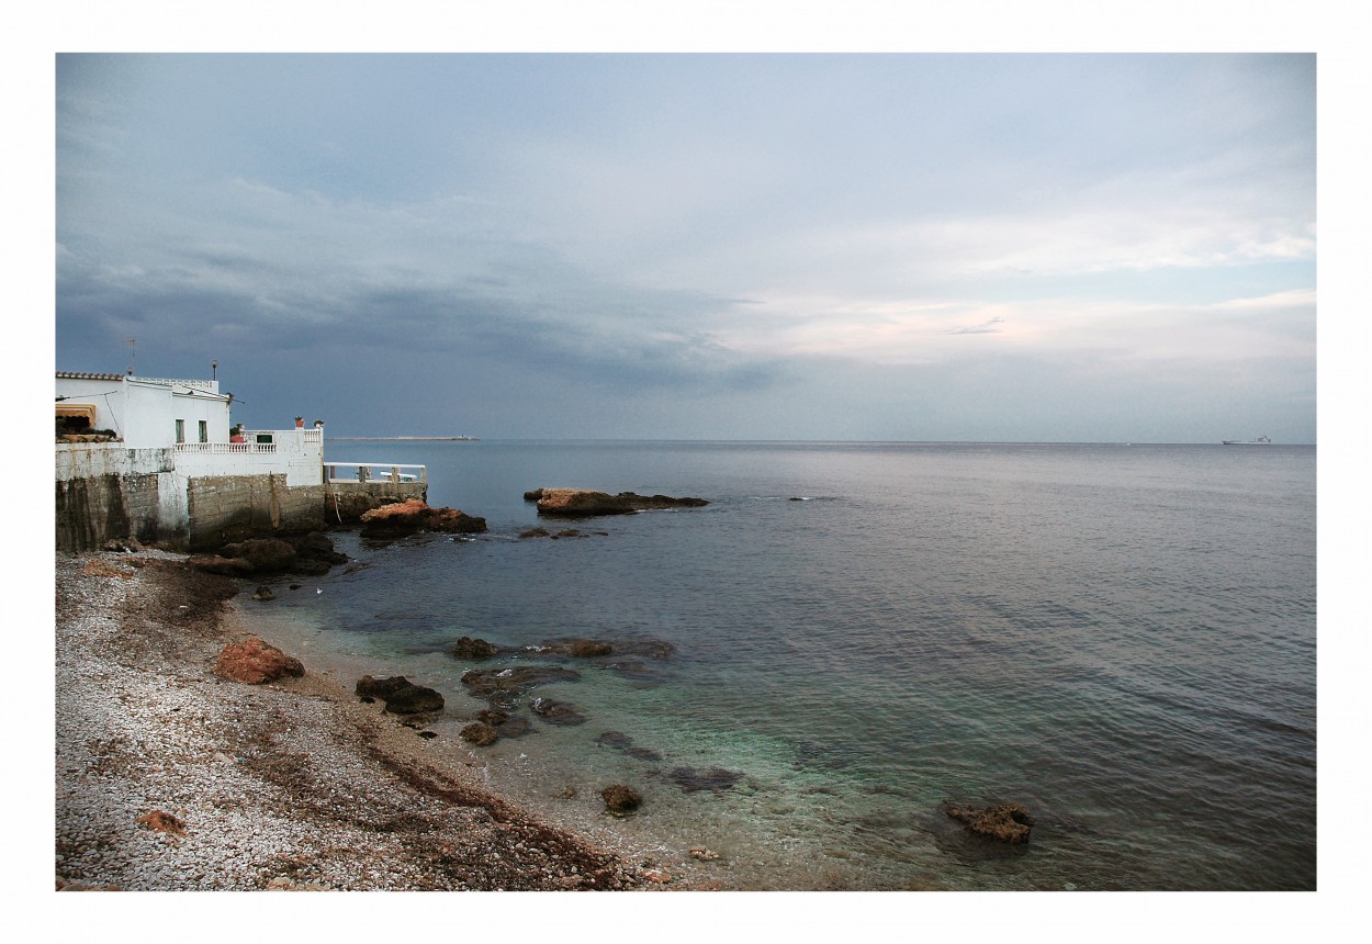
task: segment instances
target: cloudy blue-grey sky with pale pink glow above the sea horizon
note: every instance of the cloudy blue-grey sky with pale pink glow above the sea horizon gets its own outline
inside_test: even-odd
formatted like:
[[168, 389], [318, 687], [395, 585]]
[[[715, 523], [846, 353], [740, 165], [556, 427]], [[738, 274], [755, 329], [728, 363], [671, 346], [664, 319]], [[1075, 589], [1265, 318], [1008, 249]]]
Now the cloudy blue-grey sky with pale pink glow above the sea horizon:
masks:
[[1314, 97], [1313, 55], [59, 55], [56, 366], [217, 359], [335, 435], [1309, 443]]

